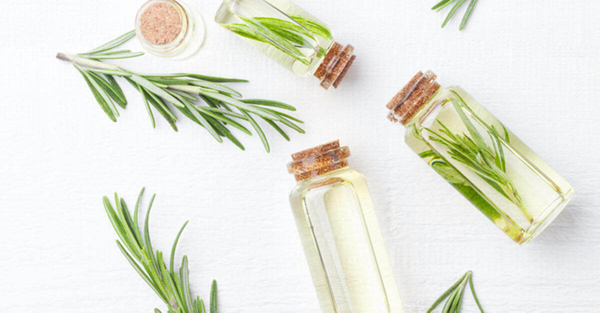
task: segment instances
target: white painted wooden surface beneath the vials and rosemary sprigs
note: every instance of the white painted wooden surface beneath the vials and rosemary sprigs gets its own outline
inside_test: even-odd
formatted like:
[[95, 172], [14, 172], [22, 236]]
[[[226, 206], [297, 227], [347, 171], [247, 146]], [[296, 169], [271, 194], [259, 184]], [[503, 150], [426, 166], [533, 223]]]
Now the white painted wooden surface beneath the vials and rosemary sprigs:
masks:
[[[467, 269], [486, 312], [598, 312], [600, 306], [600, 20], [598, 1], [479, 1], [460, 17], [430, 1], [298, 0], [358, 59], [341, 87], [298, 78], [212, 21], [217, 0], [188, 1], [206, 41], [186, 61], [153, 56], [119, 64], [146, 72], [245, 77], [247, 97], [298, 107], [307, 134], [268, 131], [247, 151], [218, 144], [181, 119], [152, 130], [139, 95], [115, 124], [82, 77], [54, 58], [133, 28], [142, 1], [19, 1], [0, 10], [0, 311], [151, 312], [163, 309], [115, 246], [101, 196], [130, 205], [157, 192], [151, 217], [163, 251], [190, 224], [178, 255], [190, 257], [194, 293], [219, 284], [220, 312], [316, 312], [292, 220], [289, 154], [340, 139], [370, 183], [407, 312], [423, 312]], [[8, 5], [8, 7], [7, 7]], [[132, 41], [131, 49], [139, 45]], [[461, 85], [575, 187], [565, 211], [520, 247], [496, 230], [404, 145], [385, 103], [418, 70]], [[146, 201], [147, 203], [147, 201]], [[464, 311], [475, 312], [465, 298]]]

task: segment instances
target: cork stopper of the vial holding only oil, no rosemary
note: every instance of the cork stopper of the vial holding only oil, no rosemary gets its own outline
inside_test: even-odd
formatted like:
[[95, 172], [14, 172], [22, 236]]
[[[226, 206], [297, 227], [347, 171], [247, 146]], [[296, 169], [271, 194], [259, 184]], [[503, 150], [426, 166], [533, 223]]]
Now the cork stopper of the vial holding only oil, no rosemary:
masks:
[[347, 157], [350, 149], [340, 147], [340, 141], [335, 140], [292, 154], [293, 161], [287, 164], [287, 171], [294, 174], [296, 181], [306, 180], [347, 167]]

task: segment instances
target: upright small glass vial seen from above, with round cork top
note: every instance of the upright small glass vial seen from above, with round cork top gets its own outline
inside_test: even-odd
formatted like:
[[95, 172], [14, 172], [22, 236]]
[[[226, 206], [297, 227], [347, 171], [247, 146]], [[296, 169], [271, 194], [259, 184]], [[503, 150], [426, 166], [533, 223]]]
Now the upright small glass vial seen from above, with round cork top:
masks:
[[181, 1], [149, 0], [137, 11], [136, 37], [153, 55], [184, 59], [202, 46], [204, 23]]

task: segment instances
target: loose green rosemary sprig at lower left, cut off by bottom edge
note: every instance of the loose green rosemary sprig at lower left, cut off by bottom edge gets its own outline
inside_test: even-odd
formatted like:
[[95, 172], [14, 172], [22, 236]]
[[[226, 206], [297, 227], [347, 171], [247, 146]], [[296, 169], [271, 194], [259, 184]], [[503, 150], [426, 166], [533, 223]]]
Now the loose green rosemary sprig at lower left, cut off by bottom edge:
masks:
[[[175, 242], [173, 242], [171, 248], [169, 267], [167, 267], [163, 260], [163, 252], [157, 250], [154, 253], [148, 230], [150, 210], [156, 194], [152, 195], [148, 204], [143, 232], [139, 228], [139, 204], [144, 189], [142, 188], [137, 197], [133, 218], [127, 208], [127, 204], [125, 204], [125, 200], [119, 198], [116, 192], [114, 209], [108, 197], [104, 196], [102, 198], [104, 209], [106, 209], [110, 222], [119, 236], [119, 239], [116, 240], [116, 245], [136, 272], [142, 276], [142, 279], [163, 300], [164, 304], [167, 305], [168, 313], [206, 313], [204, 301], [200, 299], [200, 296], [191, 297], [190, 271], [188, 269], [187, 255], [184, 255], [182, 258], [179, 270], [175, 270], [175, 248], [188, 221], [184, 223], [175, 237]], [[214, 280], [211, 284], [209, 310], [211, 313], [217, 313], [217, 281]], [[161, 313], [159, 309], [154, 309], [154, 312]]]

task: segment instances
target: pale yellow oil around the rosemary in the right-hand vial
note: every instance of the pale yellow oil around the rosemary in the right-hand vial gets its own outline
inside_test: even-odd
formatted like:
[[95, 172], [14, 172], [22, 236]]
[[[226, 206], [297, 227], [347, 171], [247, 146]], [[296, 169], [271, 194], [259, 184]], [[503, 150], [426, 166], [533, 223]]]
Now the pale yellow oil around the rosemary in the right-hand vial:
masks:
[[[425, 112], [416, 116], [416, 121], [412, 121], [414, 123], [407, 128], [406, 143], [418, 154], [433, 150], [442, 157], [443, 162], [450, 164], [458, 172], [448, 174], [448, 171], [439, 171], [442, 176], [446, 176], [448, 182], [513, 240], [521, 244], [528, 242], [560, 213], [571, 198], [572, 186], [507, 129], [509, 140], [500, 138], [506, 161], [505, 173], [522, 199], [521, 206], [509, 200], [472, 168], [452, 158], [447, 146], [431, 140], [432, 137], [436, 137], [431, 131], [440, 134], [440, 122], [448, 127], [452, 134], [469, 136], [469, 131], [453, 102], [461, 106], [469, 121], [484, 138], [485, 144], [493, 146], [488, 131], [493, 125], [499, 133], [503, 133], [503, 125], [458, 86], [441, 89], [432, 98], [431, 105], [424, 109]], [[430, 159], [426, 157], [425, 161]], [[433, 162], [433, 165], [439, 164]], [[533, 220], [524, 215], [521, 207], [530, 213]]]

